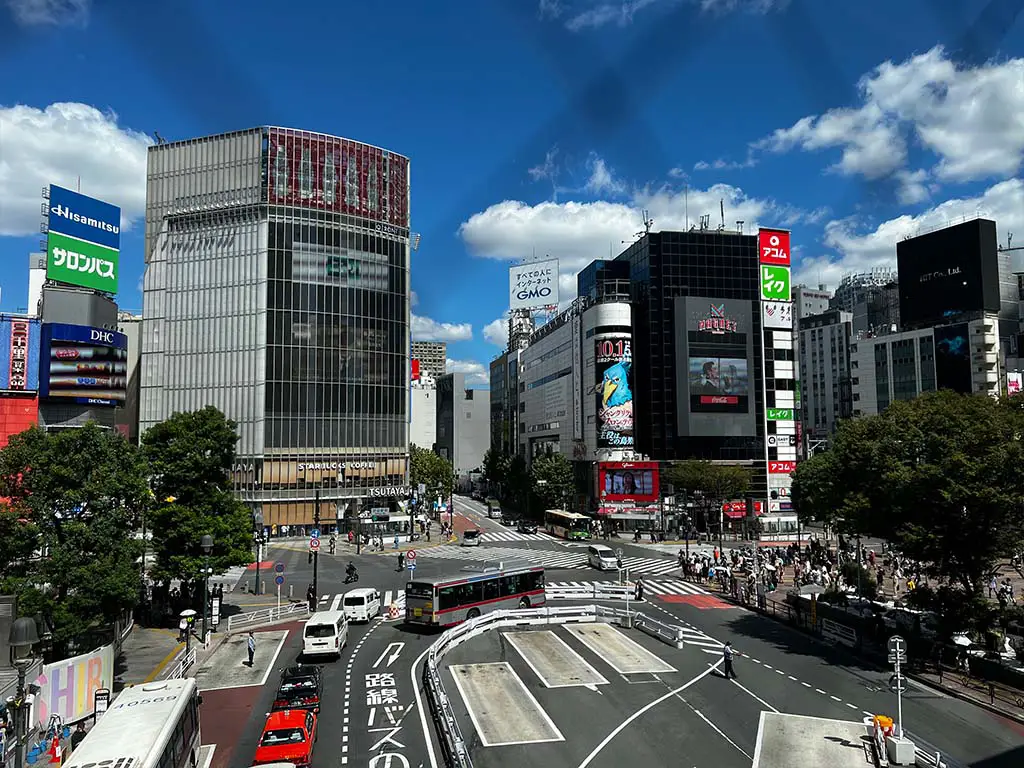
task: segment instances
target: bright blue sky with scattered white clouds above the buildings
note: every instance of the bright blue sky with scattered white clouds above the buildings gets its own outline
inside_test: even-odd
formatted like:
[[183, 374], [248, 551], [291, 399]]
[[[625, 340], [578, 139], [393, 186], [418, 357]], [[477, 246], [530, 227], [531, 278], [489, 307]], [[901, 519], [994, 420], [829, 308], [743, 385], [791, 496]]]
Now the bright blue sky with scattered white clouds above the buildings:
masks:
[[[508, 267], [643, 229], [793, 230], [795, 280], [895, 266], [964, 217], [1024, 237], [1020, 0], [0, 0], [0, 309], [49, 183], [121, 206], [141, 310], [145, 155], [279, 125], [411, 158], [413, 334], [486, 386]], [[10, 76], [12, 75], [13, 76]], [[1020, 241], [1018, 242], [1020, 244]]]

